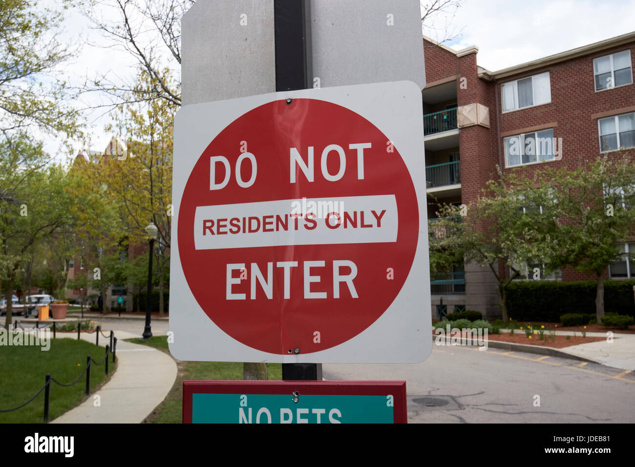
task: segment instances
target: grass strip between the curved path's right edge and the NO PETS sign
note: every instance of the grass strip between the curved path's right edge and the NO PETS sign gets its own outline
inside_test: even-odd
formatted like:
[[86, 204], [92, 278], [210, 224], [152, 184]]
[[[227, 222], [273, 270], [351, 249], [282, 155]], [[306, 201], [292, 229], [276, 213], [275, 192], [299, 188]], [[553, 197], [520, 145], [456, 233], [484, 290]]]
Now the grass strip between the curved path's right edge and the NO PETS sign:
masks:
[[[135, 344], [161, 349], [168, 354], [168, 339], [166, 336], [153, 336], [148, 341], [126, 339]], [[243, 363], [239, 362], [180, 362], [177, 360], [178, 374], [174, 386], [165, 400], [152, 411], [144, 422], [146, 423], [181, 423], [183, 405], [183, 381], [187, 379], [243, 379]], [[282, 379], [282, 365], [280, 363], [267, 364], [269, 379]]]

